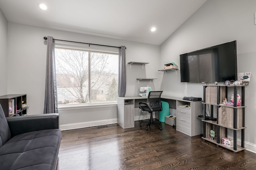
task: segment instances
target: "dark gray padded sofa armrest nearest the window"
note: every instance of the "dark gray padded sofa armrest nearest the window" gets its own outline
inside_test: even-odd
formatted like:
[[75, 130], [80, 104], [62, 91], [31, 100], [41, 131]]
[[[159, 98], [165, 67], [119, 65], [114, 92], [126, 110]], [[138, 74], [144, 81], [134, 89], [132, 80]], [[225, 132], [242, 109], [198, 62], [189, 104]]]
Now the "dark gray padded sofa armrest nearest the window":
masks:
[[59, 114], [49, 113], [40, 115], [26, 115], [6, 117], [11, 136], [46, 129], [59, 129]]

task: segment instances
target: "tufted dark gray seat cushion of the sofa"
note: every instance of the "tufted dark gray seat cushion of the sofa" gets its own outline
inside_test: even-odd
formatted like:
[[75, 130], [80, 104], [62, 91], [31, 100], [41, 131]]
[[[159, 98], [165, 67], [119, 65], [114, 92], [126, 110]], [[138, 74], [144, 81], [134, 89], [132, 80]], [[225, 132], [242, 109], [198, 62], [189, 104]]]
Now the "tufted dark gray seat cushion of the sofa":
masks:
[[0, 148], [4, 170], [54, 170], [60, 146], [60, 129], [17, 135]]

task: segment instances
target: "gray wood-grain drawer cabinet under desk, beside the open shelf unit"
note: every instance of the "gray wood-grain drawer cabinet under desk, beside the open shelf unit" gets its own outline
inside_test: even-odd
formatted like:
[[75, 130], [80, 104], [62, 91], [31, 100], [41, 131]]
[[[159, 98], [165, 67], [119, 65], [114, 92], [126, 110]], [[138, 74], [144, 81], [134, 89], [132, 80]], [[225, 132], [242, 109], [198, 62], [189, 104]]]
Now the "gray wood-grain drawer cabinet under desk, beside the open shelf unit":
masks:
[[[203, 124], [198, 115], [202, 114], [202, 101], [177, 100], [176, 130], [190, 137], [203, 133]], [[190, 105], [189, 107], [180, 107], [180, 105]]]

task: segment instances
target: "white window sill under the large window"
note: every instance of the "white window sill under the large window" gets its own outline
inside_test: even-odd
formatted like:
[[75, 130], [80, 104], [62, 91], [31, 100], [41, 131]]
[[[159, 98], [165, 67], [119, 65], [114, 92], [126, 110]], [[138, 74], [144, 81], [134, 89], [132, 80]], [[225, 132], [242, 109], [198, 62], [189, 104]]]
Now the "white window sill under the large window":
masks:
[[74, 109], [90, 109], [99, 107], [116, 107], [117, 103], [111, 104], [83, 104], [83, 105], [68, 105], [68, 106], [58, 106], [58, 110], [74, 110]]

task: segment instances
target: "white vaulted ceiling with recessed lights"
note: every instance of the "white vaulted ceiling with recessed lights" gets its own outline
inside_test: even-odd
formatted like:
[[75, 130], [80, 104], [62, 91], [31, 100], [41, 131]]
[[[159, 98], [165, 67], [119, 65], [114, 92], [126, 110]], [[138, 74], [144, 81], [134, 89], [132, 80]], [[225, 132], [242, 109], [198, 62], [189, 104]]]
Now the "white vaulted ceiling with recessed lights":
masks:
[[[40, 2], [47, 10], [38, 7]], [[0, 0], [0, 8], [9, 22], [160, 45], [205, 2]]]

